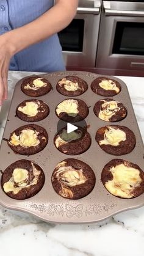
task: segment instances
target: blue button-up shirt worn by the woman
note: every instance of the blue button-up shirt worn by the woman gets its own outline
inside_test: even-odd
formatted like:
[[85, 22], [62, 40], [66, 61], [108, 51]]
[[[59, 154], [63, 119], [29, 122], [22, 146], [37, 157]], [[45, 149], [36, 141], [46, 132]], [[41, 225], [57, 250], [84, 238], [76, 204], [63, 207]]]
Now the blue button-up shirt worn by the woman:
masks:
[[[35, 20], [53, 5], [54, 0], [0, 0], [0, 34]], [[41, 72], [65, 70], [57, 34], [15, 54], [10, 60], [9, 69]]]

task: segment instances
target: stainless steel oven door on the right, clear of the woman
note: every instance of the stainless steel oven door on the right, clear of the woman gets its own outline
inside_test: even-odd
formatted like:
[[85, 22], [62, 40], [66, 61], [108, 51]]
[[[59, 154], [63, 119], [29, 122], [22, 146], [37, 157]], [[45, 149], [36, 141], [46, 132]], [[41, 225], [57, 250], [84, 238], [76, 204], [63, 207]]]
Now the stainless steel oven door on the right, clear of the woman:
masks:
[[144, 3], [104, 1], [102, 12], [96, 67], [144, 71]]

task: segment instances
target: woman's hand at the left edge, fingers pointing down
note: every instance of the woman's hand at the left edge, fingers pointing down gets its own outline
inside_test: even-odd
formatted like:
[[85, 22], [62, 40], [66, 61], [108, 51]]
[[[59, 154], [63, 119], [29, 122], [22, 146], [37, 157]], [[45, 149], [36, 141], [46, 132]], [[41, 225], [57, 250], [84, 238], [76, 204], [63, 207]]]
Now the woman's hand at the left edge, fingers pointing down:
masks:
[[2, 106], [2, 101], [7, 99], [7, 73], [10, 58], [13, 54], [14, 51], [10, 43], [9, 32], [0, 35], [0, 106]]

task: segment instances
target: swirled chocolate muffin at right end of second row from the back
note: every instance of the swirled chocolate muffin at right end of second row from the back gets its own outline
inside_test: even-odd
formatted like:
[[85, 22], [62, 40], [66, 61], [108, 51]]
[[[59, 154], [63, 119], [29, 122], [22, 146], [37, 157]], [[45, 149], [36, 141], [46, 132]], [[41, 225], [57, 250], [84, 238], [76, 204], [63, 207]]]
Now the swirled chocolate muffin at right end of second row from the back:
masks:
[[93, 111], [99, 119], [106, 122], [118, 122], [123, 120], [127, 115], [123, 103], [112, 98], [106, 98], [96, 102]]

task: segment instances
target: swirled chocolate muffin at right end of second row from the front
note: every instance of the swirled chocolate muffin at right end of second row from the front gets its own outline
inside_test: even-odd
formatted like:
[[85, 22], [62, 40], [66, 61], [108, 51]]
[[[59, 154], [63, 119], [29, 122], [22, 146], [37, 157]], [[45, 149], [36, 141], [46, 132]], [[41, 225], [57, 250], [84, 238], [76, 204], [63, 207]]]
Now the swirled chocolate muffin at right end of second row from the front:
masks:
[[96, 141], [105, 152], [116, 156], [130, 153], [136, 143], [133, 131], [120, 125], [99, 128], [96, 132]]

